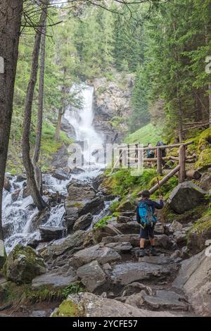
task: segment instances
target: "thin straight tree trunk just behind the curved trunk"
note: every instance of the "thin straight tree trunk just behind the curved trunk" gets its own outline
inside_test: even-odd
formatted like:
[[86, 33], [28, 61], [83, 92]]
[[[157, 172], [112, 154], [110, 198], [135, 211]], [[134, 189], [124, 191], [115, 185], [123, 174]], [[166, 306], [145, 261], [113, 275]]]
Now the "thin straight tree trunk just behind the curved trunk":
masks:
[[[46, 11], [47, 11], [47, 9], [46, 9]], [[46, 25], [46, 20], [45, 20], [44, 25]], [[38, 111], [37, 111], [37, 134], [36, 134], [36, 141], [35, 141], [34, 155], [33, 155], [35, 179], [36, 179], [37, 188], [39, 189], [40, 194], [42, 194], [42, 176], [41, 176], [41, 168], [38, 164], [38, 161], [39, 161], [40, 146], [41, 146], [41, 130], [42, 130], [42, 120], [43, 120], [45, 55], [46, 55], [46, 26], [43, 27], [42, 35], [41, 35], [40, 73], [39, 73], [39, 104], [38, 104]]]

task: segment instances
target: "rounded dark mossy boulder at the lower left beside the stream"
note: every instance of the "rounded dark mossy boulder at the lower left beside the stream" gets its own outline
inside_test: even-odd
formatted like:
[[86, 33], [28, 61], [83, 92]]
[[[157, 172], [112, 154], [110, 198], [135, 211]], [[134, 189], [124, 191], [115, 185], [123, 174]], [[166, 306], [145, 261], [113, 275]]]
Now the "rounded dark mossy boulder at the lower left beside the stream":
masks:
[[34, 277], [46, 273], [43, 258], [30, 246], [17, 245], [4, 265], [7, 280], [17, 284], [28, 284]]

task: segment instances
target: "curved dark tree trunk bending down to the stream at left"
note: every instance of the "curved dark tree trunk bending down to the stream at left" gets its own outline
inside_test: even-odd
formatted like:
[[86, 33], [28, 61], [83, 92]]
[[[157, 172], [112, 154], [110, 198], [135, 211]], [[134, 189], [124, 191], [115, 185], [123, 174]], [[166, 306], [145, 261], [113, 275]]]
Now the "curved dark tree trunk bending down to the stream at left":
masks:
[[[47, 1], [42, 8], [39, 26], [44, 26], [44, 23], [46, 22], [46, 14], [47, 14], [46, 8], [47, 8]], [[34, 166], [30, 158], [30, 127], [32, 120], [32, 101], [34, 96], [34, 87], [37, 82], [37, 69], [38, 69], [38, 61], [39, 61], [40, 44], [41, 44], [41, 30], [37, 31], [34, 41], [34, 50], [32, 54], [32, 69], [31, 69], [30, 82], [27, 88], [27, 96], [25, 101], [25, 113], [23, 118], [23, 136], [22, 136], [23, 164], [25, 166], [25, 170], [27, 174], [27, 186], [30, 188], [32, 199], [34, 200], [34, 204], [37, 206], [39, 211], [46, 208], [47, 205], [46, 202], [42, 199], [41, 194], [39, 193], [39, 189], [37, 188], [37, 182], [34, 176]]]

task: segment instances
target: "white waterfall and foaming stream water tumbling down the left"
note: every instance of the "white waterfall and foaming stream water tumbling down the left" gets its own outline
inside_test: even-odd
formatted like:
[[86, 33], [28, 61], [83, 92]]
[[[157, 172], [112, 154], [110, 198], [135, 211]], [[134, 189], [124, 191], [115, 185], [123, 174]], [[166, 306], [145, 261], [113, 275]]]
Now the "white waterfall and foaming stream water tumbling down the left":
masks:
[[[96, 160], [97, 146], [103, 144], [103, 136], [98, 134], [94, 129], [94, 111], [93, 111], [93, 97], [94, 88], [82, 85], [80, 96], [83, 100], [81, 110], [68, 108], [65, 111], [65, 118], [70, 125], [75, 129], [75, 139], [80, 145], [83, 144], [82, 154], [84, 156], [83, 171], [78, 175], [71, 175], [80, 180], [89, 181], [99, 175], [105, 166], [98, 163]], [[44, 174], [43, 180], [45, 189], [49, 192], [60, 192], [60, 194], [67, 194], [66, 185], [70, 180], [57, 180], [51, 174]], [[3, 192], [3, 225], [6, 234], [5, 245], [6, 251], [9, 252], [16, 244], [27, 244], [32, 239], [39, 239], [39, 230], [31, 232], [30, 225], [34, 215], [38, 212], [34, 206], [32, 197], [27, 196], [23, 198], [23, 189], [25, 181], [16, 182], [16, 177], [10, 179], [10, 192], [4, 190]], [[19, 194], [17, 193], [19, 192]], [[18, 199], [17, 195], [18, 194]], [[44, 199], [47, 199], [44, 196]], [[103, 217], [108, 213], [110, 202], [106, 202], [106, 208], [101, 211]], [[63, 227], [65, 217], [65, 208], [63, 204], [56, 205], [51, 208], [51, 214], [47, 220], [45, 227]]]

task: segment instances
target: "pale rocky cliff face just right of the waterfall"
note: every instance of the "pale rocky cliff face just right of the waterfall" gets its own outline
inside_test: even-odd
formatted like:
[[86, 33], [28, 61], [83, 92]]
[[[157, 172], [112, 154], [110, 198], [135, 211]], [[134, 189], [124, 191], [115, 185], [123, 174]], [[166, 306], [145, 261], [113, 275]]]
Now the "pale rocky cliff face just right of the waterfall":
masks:
[[106, 142], [120, 142], [127, 132], [127, 118], [132, 113], [131, 96], [134, 77], [115, 73], [91, 81], [95, 89], [94, 125], [106, 137]]

